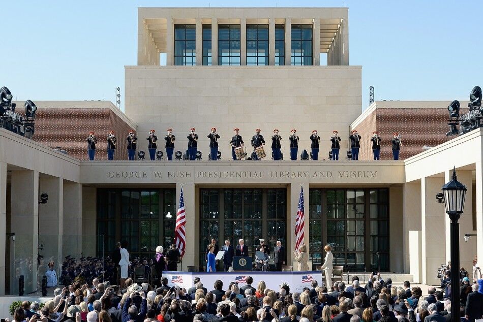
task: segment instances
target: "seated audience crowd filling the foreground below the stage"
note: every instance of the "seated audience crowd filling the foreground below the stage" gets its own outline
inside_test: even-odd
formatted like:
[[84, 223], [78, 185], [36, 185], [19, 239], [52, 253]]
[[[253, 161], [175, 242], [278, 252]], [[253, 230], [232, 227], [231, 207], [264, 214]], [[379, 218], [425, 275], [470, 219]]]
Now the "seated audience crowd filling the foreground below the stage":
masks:
[[[126, 279], [125, 287], [95, 278], [92, 285], [74, 282], [54, 290], [54, 298], [39, 310], [39, 303], [24, 301], [14, 312], [15, 322], [373, 322], [373, 321], [450, 321], [451, 304], [442, 291], [420, 287], [406, 281], [393, 285], [390, 278], [371, 274], [363, 286], [357, 276], [352, 284], [325, 284], [313, 281], [300, 293], [282, 283], [269, 289], [253, 278], [239, 285], [217, 280], [208, 292], [199, 277], [189, 289], [168, 285], [162, 277], [159, 287]], [[483, 279], [462, 287], [461, 319], [474, 321], [483, 316]], [[210, 287], [211, 288], [211, 287]]]

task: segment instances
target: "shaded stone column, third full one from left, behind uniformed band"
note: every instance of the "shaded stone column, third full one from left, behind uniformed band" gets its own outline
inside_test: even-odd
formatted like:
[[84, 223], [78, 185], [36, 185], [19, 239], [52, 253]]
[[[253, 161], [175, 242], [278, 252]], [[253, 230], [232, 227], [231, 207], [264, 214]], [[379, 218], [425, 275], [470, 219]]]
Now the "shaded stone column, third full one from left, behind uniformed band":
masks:
[[[96, 204], [95, 201], [93, 203]], [[94, 229], [82, 234], [82, 184], [64, 181], [63, 257], [71, 255], [79, 258], [83, 251], [79, 247], [82, 245], [82, 237], [96, 240], [96, 214], [94, 218]]]

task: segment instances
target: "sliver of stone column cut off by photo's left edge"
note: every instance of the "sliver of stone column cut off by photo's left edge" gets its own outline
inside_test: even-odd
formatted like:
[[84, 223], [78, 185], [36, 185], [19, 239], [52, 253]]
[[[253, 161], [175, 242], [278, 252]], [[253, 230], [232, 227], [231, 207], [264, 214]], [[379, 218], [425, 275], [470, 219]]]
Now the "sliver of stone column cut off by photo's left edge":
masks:
[[[5, 236], [7, 222], [7, 164], [0, 162], [0, 236]], [[0, 238], [0, 296], [5, 295], [5, 242], [6, 237]]]

